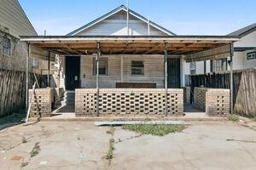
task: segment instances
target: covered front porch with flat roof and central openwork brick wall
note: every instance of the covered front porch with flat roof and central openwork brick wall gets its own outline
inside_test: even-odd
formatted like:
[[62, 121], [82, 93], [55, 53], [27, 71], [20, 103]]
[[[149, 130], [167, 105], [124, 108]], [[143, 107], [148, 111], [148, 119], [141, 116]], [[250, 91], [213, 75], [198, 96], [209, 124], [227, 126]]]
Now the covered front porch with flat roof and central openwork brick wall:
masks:
[[[22, 37], [22, 41], [62, 57], [65, 88], [75, 89], [76, 116], [182, 116], [183, 62], [232, 57], [233, 42], [238, 39]], [[74, 58], [78, 61], [71, 61]], [[67, 72], [67, 66], [75, 73]]]

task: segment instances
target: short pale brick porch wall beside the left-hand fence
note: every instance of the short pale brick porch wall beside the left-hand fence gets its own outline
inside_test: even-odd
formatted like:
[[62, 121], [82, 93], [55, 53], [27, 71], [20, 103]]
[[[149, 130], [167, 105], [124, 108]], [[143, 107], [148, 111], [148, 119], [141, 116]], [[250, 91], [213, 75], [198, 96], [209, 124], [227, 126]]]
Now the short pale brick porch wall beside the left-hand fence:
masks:
[[[34, 97], [32, 99], [32, 106], [30, 116], [50, 116], [51, 106], [53, 101], [54, 91], [52, 88], [38, 88], [35, 90]], [[32, 89], [29, 90], [29, 99], [31, 101]]]

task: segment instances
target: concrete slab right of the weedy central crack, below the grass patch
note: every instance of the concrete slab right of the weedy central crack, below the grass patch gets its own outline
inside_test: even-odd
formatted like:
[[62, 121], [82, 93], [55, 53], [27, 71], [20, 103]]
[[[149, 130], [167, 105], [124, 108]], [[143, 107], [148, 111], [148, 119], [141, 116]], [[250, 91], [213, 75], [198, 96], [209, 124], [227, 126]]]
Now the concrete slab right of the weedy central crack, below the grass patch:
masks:
[[[256, 133], [232, 122], [191, 122], [164, 137], [119, 128], [111, 169], [255, 169]], [[129, 140], [127, 140], [129, 139]], [[232, 140], [229, 140], [232, 139]], [[250, 142], [245, 142], [250, 141]]]

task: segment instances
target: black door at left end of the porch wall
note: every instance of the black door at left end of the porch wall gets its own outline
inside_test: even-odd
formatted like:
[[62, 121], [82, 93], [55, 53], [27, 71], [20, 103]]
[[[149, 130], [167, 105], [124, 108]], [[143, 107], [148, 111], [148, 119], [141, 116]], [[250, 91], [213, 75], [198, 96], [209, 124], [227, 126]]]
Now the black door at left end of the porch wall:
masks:
[[80, 88], [80, 57], [66, 57], [66, 89]]

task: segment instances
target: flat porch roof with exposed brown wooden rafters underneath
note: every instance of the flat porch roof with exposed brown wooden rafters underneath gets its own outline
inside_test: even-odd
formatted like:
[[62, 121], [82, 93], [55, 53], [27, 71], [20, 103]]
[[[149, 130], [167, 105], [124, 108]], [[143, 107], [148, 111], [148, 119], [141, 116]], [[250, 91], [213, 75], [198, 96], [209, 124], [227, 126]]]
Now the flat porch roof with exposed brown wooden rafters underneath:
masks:
[[[96, 44], [100, 42], [102, 54], [168, 54], [188, 55], [207, 50], [230, 46], [240, 39], [237, 36], [26, 36], [21, 41], [29, 42], [38, 48], [44, 48], [61, 55], [86, 55], [96, 53]], [[230, 48], [221, 50], [227, 53]], [[192, 55], [193, 54], [193, 55]], [[208, 53], [207, 53], [208, 54]], [[212, 54], [208, 54], [209, 56]], [[201, 56], [206, 57], [206, 56]]]

